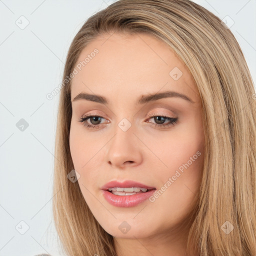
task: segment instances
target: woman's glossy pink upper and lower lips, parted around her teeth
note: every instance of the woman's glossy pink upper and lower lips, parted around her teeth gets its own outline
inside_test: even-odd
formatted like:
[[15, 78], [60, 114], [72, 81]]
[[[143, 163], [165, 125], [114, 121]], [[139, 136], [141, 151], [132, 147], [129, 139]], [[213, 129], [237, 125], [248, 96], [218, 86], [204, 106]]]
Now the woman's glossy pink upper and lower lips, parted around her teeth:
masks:
[[[109, 187], [142, 187], [150, 190], [131, 195], [116, 195], [108, 191]], [[124, 182], [112, 180], [104, 184], [101, 190], [108, 203], [117, 207], [133, 207], [148, 199], [155, 192], [156, 188], [132, 180], [125, 180]]]

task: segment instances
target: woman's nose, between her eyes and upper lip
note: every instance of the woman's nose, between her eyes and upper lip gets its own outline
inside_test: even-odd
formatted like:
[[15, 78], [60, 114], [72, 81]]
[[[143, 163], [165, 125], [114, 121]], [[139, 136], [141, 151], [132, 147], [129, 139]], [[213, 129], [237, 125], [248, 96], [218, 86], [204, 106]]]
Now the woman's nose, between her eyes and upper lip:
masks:
[[135, 166], [142, 161], [141, 141], [133, 133], [132, 126], [123, 131], [117, 127], [112, 139], [106, 144], [106, 160], [112, 167]]

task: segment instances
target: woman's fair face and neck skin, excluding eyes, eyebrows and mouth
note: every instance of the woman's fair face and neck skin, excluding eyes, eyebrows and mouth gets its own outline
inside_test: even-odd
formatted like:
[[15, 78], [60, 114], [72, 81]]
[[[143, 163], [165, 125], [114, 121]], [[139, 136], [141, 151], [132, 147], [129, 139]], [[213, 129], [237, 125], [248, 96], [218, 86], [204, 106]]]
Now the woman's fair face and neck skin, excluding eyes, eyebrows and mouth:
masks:
[[[172, 49], [151, 35], [102, 35], [82, 50], [77, 63], [94, 48], [99, 52], [71, 85], [71, 100], [87, 92], [109, 101], [72, 101], [70, 151], [83, 197], [99, 224], [114, 236], [118, 256], [184, 256], [187, 217], [198, 196], [204, 155], [202, 105], [193, 77]], [[177, 80], [169, 75], [174, 67], [182, 72]], [[136, 104], [141, 95], [165, 90], [183, 93], [194, 103], [166, 97]], [[87, 119], [91, 125], [99, 123], [98, 128], [78, 121], [88, 113], [103, 117], [97, 122]], [[169, 123], [150, 117], [162, 115], [177, 117], [177, 122], [155, 127]], [[131, 124], [125, 132], [118, 126], [123, 118]], [[109, 204], [102, 195], [100, 187], [111, 180], [130, 179], [160, 189], [197, 151], [200, 156], [153, 202], [124, 208]], [[118, 228], [123, 221], [130, 226], [126, 233]]]

